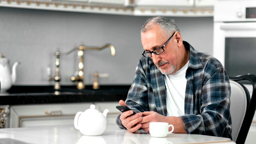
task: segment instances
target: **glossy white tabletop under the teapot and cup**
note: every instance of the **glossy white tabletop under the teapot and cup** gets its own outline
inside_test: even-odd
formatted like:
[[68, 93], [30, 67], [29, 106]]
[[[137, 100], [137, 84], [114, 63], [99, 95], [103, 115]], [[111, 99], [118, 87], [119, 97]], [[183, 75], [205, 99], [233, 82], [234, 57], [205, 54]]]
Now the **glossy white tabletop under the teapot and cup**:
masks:
[[154, 138], [147, 132], [135, 133], [108, 124], [100, 136], [84, 136], [74, 126], [52, 126], [32, 128], [0, 129], [1, 144], [235, 144], [229, 138], [198, 134], [169, 134], [165, 138]]

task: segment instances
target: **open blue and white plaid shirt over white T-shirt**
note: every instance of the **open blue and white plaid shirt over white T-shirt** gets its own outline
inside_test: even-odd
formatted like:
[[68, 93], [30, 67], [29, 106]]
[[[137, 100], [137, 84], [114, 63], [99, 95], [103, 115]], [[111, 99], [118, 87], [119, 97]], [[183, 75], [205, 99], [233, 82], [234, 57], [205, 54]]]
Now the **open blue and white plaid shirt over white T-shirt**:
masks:
[[[230, 82], [222, 64], [214, 57], [190, 50], [186, 70], [185, 115], [180, 116], [188, 134], [203, 134], [232, 138], [230, 116]], [[140, 58], [134, 82], [126, 104], [135, 112], [154, 111], [166, 116], [166, 86], [164, 75], [151, 58]], [[122, 125], [120, 115], [116, 124]]]

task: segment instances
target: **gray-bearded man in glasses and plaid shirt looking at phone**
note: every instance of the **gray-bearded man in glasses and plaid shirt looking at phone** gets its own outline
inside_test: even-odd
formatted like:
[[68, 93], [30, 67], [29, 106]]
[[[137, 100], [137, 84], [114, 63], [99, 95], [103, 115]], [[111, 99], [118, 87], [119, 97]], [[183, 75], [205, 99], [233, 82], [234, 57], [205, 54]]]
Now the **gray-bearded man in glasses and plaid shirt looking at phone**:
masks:
[[183, 41], [171, 18], [147, 20], [141, 42], [134, 82], [126, 101], [119, 102], [137, 114], [123, 112], [116, 124], [148, 132], [150, 122], [168, 122], [175, 133], [232, 138], [230, 83], [222, 64]]

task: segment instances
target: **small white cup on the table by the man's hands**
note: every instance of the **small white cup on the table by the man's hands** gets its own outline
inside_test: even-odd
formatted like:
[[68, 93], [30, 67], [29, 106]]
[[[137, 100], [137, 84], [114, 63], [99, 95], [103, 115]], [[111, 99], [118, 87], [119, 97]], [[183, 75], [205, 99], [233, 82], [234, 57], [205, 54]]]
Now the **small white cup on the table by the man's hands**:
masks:
[[[169, 132], [169, 127], [172, 127], [172, 130]], [[172, 124], [167, 122], [150, 122], [149, 123], [149, 133], [153, 137], [166, 137], [167, 134], [171, 134], [174, 130]]]

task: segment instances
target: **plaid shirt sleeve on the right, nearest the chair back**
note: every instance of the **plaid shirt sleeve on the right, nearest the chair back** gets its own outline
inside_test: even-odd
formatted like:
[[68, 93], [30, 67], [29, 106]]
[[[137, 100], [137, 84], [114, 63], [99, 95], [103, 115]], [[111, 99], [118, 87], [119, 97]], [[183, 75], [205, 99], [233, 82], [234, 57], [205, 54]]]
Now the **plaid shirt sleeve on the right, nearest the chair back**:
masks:
[[[198, 114], [180, 116], [188, 134], [223, 136], [230, 134], [230, 82], [226, 70], [218, 69], [203, 79]], [[228, 130], [227, 127], [228, 126]], [[226, 132], [225, 132], [226, 131]]]

